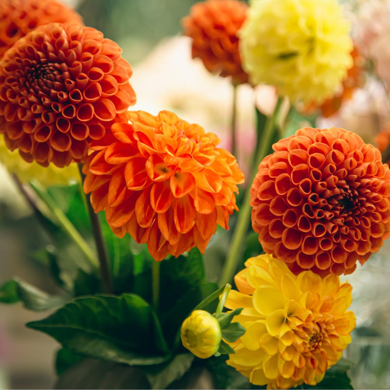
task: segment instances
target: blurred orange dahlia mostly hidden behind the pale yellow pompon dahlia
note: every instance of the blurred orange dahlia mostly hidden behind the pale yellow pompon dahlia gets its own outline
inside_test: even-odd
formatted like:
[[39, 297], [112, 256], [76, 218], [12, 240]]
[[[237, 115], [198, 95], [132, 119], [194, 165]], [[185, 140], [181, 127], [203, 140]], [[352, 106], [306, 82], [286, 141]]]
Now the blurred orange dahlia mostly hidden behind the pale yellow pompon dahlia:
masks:
[[351, 56], [353, 58], [353, 67], [348, 70], [347, 77], [342, 82], [339, 92], [331, 99], [326, 99], [320, 107], [322, 115], [326, 118], [339, 111], [342, 103], [351, 99], [353, 91], [363, 84], [363, 58], [356, 47], [351, 51]]

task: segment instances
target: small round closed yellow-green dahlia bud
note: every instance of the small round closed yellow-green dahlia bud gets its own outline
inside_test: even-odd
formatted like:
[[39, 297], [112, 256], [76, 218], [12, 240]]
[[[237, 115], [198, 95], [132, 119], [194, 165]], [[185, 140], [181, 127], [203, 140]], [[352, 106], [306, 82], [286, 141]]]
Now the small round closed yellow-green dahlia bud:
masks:
[[218, 351], [221, 340], [220, 324], [204, 310], [194, 310], [181, 326], [183, 346], [198, 358], [213, 356]]

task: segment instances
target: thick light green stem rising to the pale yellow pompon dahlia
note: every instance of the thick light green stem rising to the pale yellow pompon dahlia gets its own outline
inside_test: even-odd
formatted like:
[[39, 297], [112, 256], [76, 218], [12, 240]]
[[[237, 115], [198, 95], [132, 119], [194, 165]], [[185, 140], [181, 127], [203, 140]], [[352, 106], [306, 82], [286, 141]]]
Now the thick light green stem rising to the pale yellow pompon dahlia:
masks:
[[241, 257], [241, 250], [244, 245], [246, 232], [248, 231], [248, 226], [250, 223], [250, 186], [254, 181], [254, 178], [257, 173], [257, 167], [266, 156], [269, 147], [271, 145], [273, 139], [273, 131], [275, 128], [275, 114], [277, 113], [280, 107], [281, 99], [278, 99], [277, 106], [275, 107], [274, 112], [267, 118], [267, 121], [264, 125], [264, 129], [261, 134], [261, 140], [259, 142], [259, 148], [255, 152], [255, 159], [253, 165], [253, 171], [249, 176], [249, 181], [247, 181], [247, 188], [245, 191], [243, 206], [238, 213], [238, 220], [236, 223], [236, 227], [233, 232], [230, 248], [228, 250], [228, 255], [225, 261], [225, 264], [222, 268], [222, 273], [219, 279], [218, 284], [223, 286], [224, 284], [230, 283], [233, 280], [234, 273], [238, 267]]

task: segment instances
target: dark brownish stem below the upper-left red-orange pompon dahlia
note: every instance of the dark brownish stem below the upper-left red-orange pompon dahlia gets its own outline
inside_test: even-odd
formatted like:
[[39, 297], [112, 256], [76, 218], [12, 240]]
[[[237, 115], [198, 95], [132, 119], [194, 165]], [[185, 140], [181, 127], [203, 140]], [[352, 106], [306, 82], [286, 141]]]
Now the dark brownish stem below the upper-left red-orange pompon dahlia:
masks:
[[[78, 164], [80, 176], [82, 182], [84, 182], [85, 176], [82, 172], [82, 164]], [[85, 194], [85, 200], [87, 201], [87, 209], [89, 213], [89, 219], [92, 226], [92, 234], [95, 239], [97, 257], [99, 259], [100, 278], [103, 290], [105, 293], [112, 293], [112, 279], [110, 272], [110, 261], [108, 259], [108, 253], [106, 243], [103, 237], [103, 231], [101, 229], [101, 223], [99, 215], [97, 215], [90, 202], [90, 194]]]

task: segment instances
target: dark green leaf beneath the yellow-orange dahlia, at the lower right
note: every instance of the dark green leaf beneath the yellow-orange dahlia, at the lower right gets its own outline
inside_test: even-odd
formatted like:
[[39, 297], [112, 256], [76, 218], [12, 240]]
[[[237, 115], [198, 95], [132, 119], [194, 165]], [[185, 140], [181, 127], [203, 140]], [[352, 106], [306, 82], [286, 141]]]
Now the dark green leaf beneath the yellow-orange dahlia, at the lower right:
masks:
[[317, 383], [316, 386], [303, 385], [304, 389], [353, 389], [351, 385], [351, 378], [348, 376], [348, 371], [351, 369], [352, 363], [346, 359], [340, 359], [337, 364], [330, 367], [326, 371], [324, 379]]

